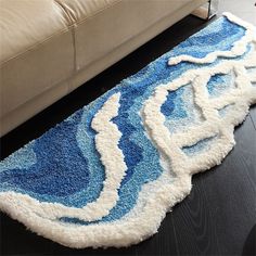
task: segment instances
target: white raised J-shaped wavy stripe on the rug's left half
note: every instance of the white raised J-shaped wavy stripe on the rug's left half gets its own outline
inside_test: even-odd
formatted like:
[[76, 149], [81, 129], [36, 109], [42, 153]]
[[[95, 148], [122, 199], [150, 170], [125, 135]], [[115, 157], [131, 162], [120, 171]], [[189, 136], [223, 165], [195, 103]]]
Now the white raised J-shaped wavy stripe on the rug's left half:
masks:
[[[38, 200], [21, 193], [9, 192], [9, 196], [16, 197], [24, 207], [33, 209], [42, 218], [57, 219], [63, 217], [79, 218], [93, 221], [106, 216], [118, 201], [118, 188], [126, 172], [124, 154], [118, 148], [121, 137], [117, 126], [111, 121], [117, 116], [119, 107], [119, 93], [112, 95], [92, 119], [92, 128], [98, 132], [95, 148], [105, 166], [105, 181], [99, 197], [82, 208], [68, 207], [60, 203], [39, 202]], [[115, 156], [115, 161], [113, 161]], [[1, 196], [1, 193], [0, 193]]]

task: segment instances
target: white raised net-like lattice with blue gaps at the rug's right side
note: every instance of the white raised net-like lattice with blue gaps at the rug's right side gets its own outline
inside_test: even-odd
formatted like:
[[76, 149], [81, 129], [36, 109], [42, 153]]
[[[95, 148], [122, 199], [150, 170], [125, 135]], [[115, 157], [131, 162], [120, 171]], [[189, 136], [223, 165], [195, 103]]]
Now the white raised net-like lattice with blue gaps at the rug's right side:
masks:
[[[199, 170], [209, 169], [219, 164], [233, 148], [233, 127], [236, 125], [236, 115], [232, 113], [229, 118], [220, 118], [218, 110], [234, 104], [235, 112], [247, 113], [248, 105], [255, 103], [256, 88], [252, 86], [245, 69], [251, 66], [256, 66], [256, 53], [242, 62], [225, 61], [215, 67], [191, 71], [170, 84], [157, 87], [154, 95], [145, 102], [143, 116], [144, 123], [151, 131], [151, 139], [169, 157], [175, 174], [179, 175], [188, 170], [189, 174], [194, 174]], [[209, 100], [206, 89], [209, 78], [216, 74], [229, 74], [232, 69], [236, 73], [236, 88], [219, 99]], [[195, 103], [202, 110], [205, 120], [202, 125], [188, 128], [184, 132], [171, 135], [164, 125], [165, 116], [161, 112], [161, 106], [166, 101], [168, 91], [177, 90], [190, 82], [192, 82], [195, 92]], [[219, 139], [212, 146], [210, 152], [189, 157], [181, 150], [183, 146], [193, 145], [205, 138], [217, 135]]]

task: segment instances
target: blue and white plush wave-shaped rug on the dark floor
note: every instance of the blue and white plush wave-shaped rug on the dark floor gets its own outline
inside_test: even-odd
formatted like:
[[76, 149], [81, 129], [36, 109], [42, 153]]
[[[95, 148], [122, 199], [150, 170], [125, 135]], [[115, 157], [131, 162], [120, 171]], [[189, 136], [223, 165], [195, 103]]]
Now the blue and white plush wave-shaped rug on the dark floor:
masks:
[[0, 208], [71, 247], [157, 232], [256, 102], [256, 31], [225, 14], [0, 163]]

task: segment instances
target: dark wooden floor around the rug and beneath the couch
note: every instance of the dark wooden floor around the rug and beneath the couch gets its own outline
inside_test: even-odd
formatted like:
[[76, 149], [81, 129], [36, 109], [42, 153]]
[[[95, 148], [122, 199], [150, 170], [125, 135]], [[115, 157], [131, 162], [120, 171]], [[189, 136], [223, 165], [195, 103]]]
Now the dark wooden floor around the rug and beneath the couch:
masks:
[[[231, 11], [256, 25], [253, 5], [253, 0], [225, 0], [220, 12]], [[1, 157], [42, 135], [206, 25], [193, 16], [185, 17], [2, 138]], [[158, 233], [148, 241], [121, 249], [69, 249], [27, 231], [1, 214], [0, 255], [256, 255], [256, 107], [234, 135], [234, 150], [220, 166], [194, 176], [191, 194], [167, 215]]]

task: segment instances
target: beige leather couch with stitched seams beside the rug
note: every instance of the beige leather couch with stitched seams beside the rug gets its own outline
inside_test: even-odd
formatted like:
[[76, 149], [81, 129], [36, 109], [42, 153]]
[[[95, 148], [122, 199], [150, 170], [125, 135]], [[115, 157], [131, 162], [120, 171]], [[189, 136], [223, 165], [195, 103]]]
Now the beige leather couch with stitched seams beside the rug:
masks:
[[204, 2], [0, 0], [0, 136]]

